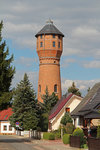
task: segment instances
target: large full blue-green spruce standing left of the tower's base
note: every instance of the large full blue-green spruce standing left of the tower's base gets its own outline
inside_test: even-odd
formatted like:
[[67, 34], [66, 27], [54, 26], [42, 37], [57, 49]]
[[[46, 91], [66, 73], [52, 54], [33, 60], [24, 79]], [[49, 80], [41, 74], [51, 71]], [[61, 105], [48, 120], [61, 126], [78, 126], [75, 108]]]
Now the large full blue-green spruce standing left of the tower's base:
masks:
[[23, 130], [36, 129], [38, 125], [36, 94], [25, 73], [24, 79], [17, 85], [13, 97], [13, 115], [10, 123], [13, 127], [19, 122]]

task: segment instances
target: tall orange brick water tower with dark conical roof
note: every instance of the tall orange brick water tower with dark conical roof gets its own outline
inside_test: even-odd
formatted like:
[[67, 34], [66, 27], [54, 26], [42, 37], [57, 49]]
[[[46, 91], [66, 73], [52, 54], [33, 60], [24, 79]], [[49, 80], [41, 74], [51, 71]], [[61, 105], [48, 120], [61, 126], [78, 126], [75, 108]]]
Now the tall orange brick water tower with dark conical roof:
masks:
[[64, 35], [49, 20], [35, 35], [39, 56], [38, 100], [45, 93], [46, 86], [50, 94], [55, 92], [61, 98], [60, 57], [63, 50]]

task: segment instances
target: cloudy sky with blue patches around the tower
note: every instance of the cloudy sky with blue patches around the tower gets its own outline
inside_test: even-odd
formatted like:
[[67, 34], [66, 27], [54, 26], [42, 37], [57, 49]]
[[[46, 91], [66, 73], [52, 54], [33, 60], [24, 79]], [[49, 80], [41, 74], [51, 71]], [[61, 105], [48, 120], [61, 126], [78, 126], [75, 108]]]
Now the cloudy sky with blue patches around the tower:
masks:
[[100, 82], [100, 0], [0, 0], [2, 36], [16, 68], [12, 87], [27, 73], [37, 92], [35, 34], [49, 18], [65, 35], [60, 61], [62, 93], [74, 81], [85, 96], [88, 87]]

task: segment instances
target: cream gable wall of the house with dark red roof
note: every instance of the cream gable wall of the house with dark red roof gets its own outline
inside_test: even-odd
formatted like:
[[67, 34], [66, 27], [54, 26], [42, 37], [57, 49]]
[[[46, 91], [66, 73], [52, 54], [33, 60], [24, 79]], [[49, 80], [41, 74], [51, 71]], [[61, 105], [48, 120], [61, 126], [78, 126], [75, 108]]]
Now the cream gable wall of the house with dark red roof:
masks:
[[52, 124], [52, 130], [57, 130], [59, 128], [60, 121], [65, 114], [66, 107], [69, 107], [70, 112], [72, 112], [76, 108], [76, 106], [81, 102], [81, 99], [82, 98], [79, 98], [77, 96], [72, 96], [69, 102], [67, 102], [65, 106], [60, 110], [60, 112], [53, 119], [49, 120], [49, 122]]

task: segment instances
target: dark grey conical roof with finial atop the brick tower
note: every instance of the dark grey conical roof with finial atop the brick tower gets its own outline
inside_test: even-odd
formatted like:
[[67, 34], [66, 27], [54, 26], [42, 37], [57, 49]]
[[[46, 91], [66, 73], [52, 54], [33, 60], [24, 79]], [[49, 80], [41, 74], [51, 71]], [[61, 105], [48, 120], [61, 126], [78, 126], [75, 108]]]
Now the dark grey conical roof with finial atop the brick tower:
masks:
[[35, 37], [41, 34], [56, 34], [64, 37], [63, 33], [54, 26], [53, 21], [49, 19], [46, 23], [47, 24], [35, 35]]

